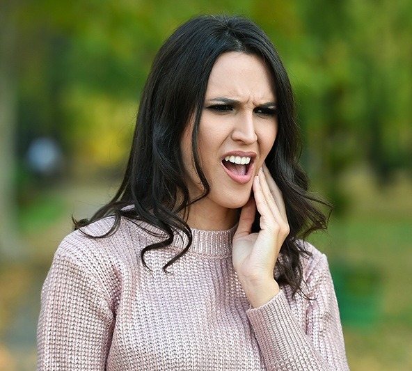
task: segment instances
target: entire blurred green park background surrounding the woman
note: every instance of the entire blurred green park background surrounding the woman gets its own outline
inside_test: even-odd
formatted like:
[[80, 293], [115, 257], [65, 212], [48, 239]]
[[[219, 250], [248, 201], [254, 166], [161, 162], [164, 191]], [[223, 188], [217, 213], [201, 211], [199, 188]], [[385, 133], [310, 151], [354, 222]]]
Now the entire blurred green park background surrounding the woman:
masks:
[[351, 370], [412, 370], [409, 0], [1, 0], [0, 370], [35, 369], [54, 251], [113, 196], [152, 58], [199, 13], [252, 17], [290, 74]]

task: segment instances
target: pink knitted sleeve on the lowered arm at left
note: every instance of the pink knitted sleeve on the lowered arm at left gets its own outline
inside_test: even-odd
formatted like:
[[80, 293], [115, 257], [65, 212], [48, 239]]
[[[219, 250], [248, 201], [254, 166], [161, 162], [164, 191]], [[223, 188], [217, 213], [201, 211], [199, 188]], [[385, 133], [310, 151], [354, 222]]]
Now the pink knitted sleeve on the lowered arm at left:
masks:
[[86, 260], [61, 249], [42, 289], [38, 370], [105, 370], [113, 312]]

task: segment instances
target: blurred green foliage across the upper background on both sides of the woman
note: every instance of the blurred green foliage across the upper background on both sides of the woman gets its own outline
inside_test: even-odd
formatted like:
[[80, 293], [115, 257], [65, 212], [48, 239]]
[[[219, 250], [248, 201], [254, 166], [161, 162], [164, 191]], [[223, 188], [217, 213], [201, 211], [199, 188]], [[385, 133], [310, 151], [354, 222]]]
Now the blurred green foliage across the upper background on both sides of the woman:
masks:
[[[199, 13], [248, 15], [274, 40], [296, 93], [303, 164], [322, 178], [327, 194], [344, 200], [339, 180], [356, 164], [370, 164], [382, 181], [411, 170], [406, 0], [22, 2], [16, 10], [22, 137], [57, 136], [70, 158], [104, 152], [100, 125], [106, 138], [127, 143], [118, 133], [134, 115], [116, 115], [113, 107], [137, 104], [161, 43]], [[102, 109], [107, 105], [111, 113]], [[118, 166], [121, 156], [102, 166]]]

